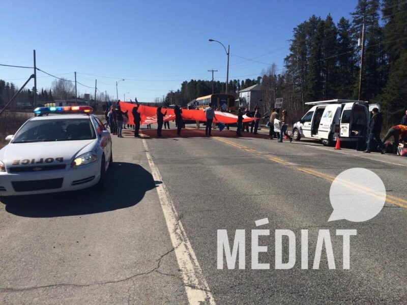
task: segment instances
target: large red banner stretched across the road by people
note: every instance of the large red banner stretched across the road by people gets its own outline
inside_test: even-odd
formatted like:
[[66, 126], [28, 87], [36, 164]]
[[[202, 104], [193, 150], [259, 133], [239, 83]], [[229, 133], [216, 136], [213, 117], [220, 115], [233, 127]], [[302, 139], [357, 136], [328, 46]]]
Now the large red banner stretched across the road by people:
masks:
[[[129, 116], [129, 122], [133, 122], [133, 114], [132, 110], [136, 107], [136, 104], [128, 103], [128, 102], [120, 102], [120, 109], [123, 112], [128, 111], [127, 115]], [[161, 112], [167, 114], [164, 116], [164, 121], [175, 120], [175, 113], [174, 109], [166, 109], [162, 108]], [[139, 104], [138, 113], [140, 113], [141, 117], [141, 125], [147, 124], [155, 124], [157, 123], [157, 107], [151, 106], [144, 106]], [[202, 110], [188, 110], [182, 109], [182, 118], [184, 120], [194, 120], [194, 121], [206, 121], [206, 114]], [[238, 116], [229, 112], [222, 112], [222, 111], [215, 111], [215, 116], [217, 119], [214, 119], [215, 123], [224, 123], [224, 124], [234, 124], [238, 121]], [[246, 115], [243, 116], [244, 122], [255, 120], [255, 118], [248, 117]]]

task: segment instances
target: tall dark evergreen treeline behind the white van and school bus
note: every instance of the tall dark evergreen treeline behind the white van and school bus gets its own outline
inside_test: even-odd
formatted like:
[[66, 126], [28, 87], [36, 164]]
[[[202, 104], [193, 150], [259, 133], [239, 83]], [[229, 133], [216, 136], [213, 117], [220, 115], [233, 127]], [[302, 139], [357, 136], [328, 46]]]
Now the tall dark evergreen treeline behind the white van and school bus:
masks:
[[[358, 99], [362, 26], [365, 27], [361, 100], [379, 102], [387, 121], [398, 120], [407, 107], [407, 2], [359, 0], [351, 18], [311, 16], [297, 25], [284, 69], [275, 65], [257, 80], [231, 80], [228, 93], [255, 83], [263, 87], [263, 112], [276, 98], [299, 116], [305, 102], [327, 99]], [[225, 83], [215, 82], [214, 92], [224, 92]], [[166, 102], [186, 105], [212, 93], [211, 81], [190, 80], [169, 93]]]

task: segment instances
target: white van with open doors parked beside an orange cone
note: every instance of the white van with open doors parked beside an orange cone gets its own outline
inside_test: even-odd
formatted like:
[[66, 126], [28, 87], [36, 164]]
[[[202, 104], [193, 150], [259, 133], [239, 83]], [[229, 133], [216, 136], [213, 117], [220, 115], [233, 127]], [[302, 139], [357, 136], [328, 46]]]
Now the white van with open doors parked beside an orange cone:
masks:
[[[369, 104], [355, 100], [309, 102], [313, 107], [293, 126], [293, 138], [322, 140], [326, 146], [341, 141], [366, 141], [370, 120]], [[370, 105], [378, 107], [379, 105]]]

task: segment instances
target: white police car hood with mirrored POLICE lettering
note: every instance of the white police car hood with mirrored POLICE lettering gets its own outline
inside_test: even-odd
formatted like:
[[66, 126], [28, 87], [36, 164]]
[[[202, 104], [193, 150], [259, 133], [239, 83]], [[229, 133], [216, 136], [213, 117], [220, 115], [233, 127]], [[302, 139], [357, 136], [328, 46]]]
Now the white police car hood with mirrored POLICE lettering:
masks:
[[[93, 151], [97, 139], [11, 143], [0, 150], [0, 160], [6, 167], [71, 164], [81, 154]], [[28, 160], [28, 162], [27, 162]], [[34, 160], [34, 161], [33, 161]]]

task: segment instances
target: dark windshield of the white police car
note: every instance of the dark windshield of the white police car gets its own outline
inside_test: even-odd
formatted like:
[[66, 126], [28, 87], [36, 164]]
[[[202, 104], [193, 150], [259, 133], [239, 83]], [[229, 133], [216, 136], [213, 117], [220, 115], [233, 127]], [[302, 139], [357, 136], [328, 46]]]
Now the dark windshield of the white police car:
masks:
[[14, 136], [13, 143], [95, 139], [89, 118], [29, 120]]

